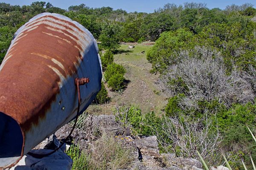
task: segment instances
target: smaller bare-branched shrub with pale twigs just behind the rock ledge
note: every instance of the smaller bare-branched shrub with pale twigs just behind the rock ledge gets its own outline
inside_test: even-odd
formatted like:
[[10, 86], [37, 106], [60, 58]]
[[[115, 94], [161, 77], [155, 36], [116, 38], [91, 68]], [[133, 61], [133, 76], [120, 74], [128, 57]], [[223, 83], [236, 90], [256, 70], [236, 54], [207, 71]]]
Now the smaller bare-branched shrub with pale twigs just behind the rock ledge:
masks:
[[156, 135], [161, 152], [176, 156], [198, 158], [196, 150], [204, 158], [215, 154], [221, 142], [216, 126], [207, 117], [197, 118], [185, 115], [181, 110], [169, 116], [147, 113], [143, 118], [143, 135]]

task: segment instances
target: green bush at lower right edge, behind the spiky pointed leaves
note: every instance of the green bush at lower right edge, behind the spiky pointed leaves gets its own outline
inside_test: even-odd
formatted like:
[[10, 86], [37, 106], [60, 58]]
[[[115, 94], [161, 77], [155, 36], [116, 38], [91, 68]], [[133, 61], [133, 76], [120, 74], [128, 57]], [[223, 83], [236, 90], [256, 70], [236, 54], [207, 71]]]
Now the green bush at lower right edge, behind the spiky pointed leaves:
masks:
[[247, 103], [246, 105], [236, 104], [227, 111], [217, 113], [218, 125], [224, 136], [221, 147], [225, 153], [232, 153], [233, 167], [241, 166], [242, 156], [246, 164], [250, 164], [250, 155], [256, 159], [255, 142], [250, 136], [247, 126], [250, 129], [256, 128], [256, 105]]

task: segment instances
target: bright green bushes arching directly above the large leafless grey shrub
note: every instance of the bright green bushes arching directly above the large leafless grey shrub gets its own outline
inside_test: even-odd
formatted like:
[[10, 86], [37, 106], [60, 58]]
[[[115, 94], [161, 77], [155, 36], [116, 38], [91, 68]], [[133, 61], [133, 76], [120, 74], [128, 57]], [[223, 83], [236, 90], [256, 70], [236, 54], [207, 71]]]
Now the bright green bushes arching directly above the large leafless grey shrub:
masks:
[[[255, 63], [255, 28], [256, 23], [249, 18], [236, 16], [234, 19], [230, 18], [230, 23], [210, 23], [197, 34], [187, 28], [164, 32], [147, 54], [148, 61], [152, 63], [151, 72], [162, 73], [168, 66], [180, 62], [181, 51], [191, 50], [196, 46], [221, 52], [229, 72], [236, 66], [246, 70], [248, 63]], [[197, 57], [193, 51], [190, 52], [189, 56]]]

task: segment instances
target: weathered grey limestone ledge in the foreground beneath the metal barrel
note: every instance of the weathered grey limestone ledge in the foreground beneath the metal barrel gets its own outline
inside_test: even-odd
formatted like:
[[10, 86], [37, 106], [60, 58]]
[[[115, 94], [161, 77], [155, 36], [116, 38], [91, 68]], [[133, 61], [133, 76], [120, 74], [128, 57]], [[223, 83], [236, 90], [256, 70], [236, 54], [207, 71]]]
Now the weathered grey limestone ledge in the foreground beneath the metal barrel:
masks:
[[[49, 138], [47, 138], [45, 141], [39, 144], [36, 148], [37, 149], [46, 149], [46, 148], [54, 149], [54, 147], [58, 146], [59, 144], [58, 140], [63, 141], [63, 139], [66, 139], [67, 143], [69, 141], [70, 144], [72, 143], [72, 144], [79, 145], [81, 149], [86, 150], [88, 148], [88, 145], [93, 145], [93, 142], [92, 142], [93, 140], [97, 140], [92, 136], [95, 136], [95, 133], [102, 130], [102, 128], [107, 132], [111, 132], [110, 134], [113, 134], [113, 136], [116, 135], [115, 140], [120, 140], [124, 144], [125, 142], [127, 142], [127, 144], [137, 149], [136, 152], [132, 153], [134, 155], [134, 161], [131, 164], [131, 168], [129, 170], [201, 170], [202, 168], [201, 162], [196, 159], [176, 157], [174, 153], [160, 154], [159, 148], [158, 148], [157, 136], [126, 136], [127, 133], [125, 133], [125, 130], [123, 129], [122, 125], [116, 122], [115, 116], [107, 116], [107, 115], [87, 116], [84, 122], [84, 127], [82, 127], [81, 130], [75, 129], [72, 135], [70, 136], [70, 139], [67, 139], [67, 137], [72, 129], [72, 126], [68, 124], [64, 125], [57, 132], [55, 132], [55, 135], [52, 135]], [[62, 147], [61, 149], [65, 150], [67, 149], [67, 147]], [[59, 151], [56, 154], [60, 154]], [[26, 156], [25, 159], [28, 159], [28, 157], [29, 156]], [[60, 157], [60, 156], [57, 155], [57, 157]], [[63, 160], [60, 160], [59, 162], [62, 162], [62, 161]], [[68, 162], [70, 161], [63, 163], [63, 164], [66, 164], [65, 165], [66, 167], [63, 167], [64, 170], [66, 170], [65, 168], [69, 168], [70, 164], [68, 164]], [[43, 163], [44, 161], [42, 161], [42, 163], [40, 164], [38, 163], [36, 164], [38, 166], [40, 165], [41, 167], [43, 167]], [[58, 164], [58, 162], [55, 162], [55, 164]], [[26, 166], [29, 166], [29, 165], [26, 164]], [[48, 168], [47, 166], [46, 168]], [[32, 170], [39, 170], [39, 169], [35, 169], [35, 166], [31, 168], [34, 168]], [[40, 170], [47, 170], [47, 169], [40, 169]], [[215, 169], [212, 169], [212, 170], [215, 170]]]

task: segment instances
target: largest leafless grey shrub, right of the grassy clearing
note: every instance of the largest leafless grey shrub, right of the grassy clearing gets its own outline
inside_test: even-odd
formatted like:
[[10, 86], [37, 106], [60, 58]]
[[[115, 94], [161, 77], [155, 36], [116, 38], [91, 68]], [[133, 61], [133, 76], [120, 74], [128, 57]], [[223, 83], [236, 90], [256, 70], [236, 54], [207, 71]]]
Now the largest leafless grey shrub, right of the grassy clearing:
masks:
[[252, 102], [253, 85], [245, 72], [234, 69], [227, 74], [224, 59], [219, 52], [195, 47], [196, 56], [189, 57], [189, 51], [180, 53], [180, 62], [169, 66], [161, 83], [170, 96], [184, 93], [187, 98], [183, 104], [188, 108], [198, 107], [198, 101], [219, 102], [230, 107], [234, 102]]

